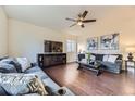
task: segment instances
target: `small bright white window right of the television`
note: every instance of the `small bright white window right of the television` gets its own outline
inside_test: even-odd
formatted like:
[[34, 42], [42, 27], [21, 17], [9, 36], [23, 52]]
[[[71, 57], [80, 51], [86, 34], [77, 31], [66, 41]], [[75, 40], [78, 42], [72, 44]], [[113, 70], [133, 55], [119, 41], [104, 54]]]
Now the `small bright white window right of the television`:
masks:
[[76, 42], [74, 40], [66, 40], [66, 51], [75, 52], [75, 50], [76, 50]]

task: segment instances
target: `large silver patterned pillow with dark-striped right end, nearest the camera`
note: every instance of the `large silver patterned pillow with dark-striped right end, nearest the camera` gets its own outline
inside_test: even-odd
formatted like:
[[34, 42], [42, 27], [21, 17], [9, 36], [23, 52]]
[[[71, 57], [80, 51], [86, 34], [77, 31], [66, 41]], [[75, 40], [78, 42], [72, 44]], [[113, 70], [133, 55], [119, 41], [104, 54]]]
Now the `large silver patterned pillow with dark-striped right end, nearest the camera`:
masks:
[[[32, 81], [35, 83], [33, 87]], [[21, 96], [30, 92], [48, 94], [44, 88], [44, 84], [34, 74], [0, 73], [0, 86], [11, 96]], [[34, 89], [30, 89], [29, 87]]]

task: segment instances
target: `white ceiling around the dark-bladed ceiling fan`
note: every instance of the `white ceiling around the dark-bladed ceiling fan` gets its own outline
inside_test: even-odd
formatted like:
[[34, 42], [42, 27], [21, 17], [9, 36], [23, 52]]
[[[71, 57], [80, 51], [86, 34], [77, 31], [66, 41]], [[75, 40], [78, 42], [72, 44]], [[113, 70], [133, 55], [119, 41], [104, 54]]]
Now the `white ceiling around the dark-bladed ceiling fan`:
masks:
[[[4, 10], [5, 13], [10, 18], [15, 18], [24, 22], [28, 22], [35, 24], [37, 26], [48, 27], [54, 30], [64, 31], [69, 34], [82, 34], [86, 33], [94, 27], [95, 24], [98, 24], [105, 17], [116, 17], [120, 22], [123, 18], [131, 18], [135, 17], [132, 16], [133, 12], [131, 8], [134, 7], [126, 7], [127, 9], [123, 9], [124, 7], [82, 7], [82, 5], [74, 5], [74, 7], [65, 7], [65, 5], [5, 5]], [[84, 10], [88, 10], [89, 13], [86, 18], [96, 18], [97, 22], [85, 24], [85, 28], [81, 28], [79, 26], [69, 27], [72, 22], [66, 21], [65, 17], [77, 17], [78, 13], [84, 12]], [[124, 13], [118, 12], [119, 10], [123, 10]], [[135, 8], [134, 8], [135, 10]], [[116, 15], [115, 15], [116, 14]], [[122, 16], [123, 14], [123, 16]], [[115, 21], [115, 22], [118, 22]], [[111, 18], [110, 18], [111, 22]]]

